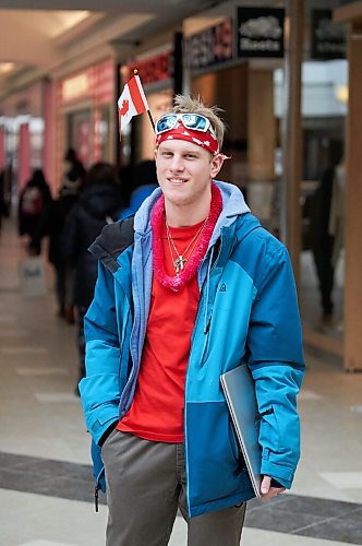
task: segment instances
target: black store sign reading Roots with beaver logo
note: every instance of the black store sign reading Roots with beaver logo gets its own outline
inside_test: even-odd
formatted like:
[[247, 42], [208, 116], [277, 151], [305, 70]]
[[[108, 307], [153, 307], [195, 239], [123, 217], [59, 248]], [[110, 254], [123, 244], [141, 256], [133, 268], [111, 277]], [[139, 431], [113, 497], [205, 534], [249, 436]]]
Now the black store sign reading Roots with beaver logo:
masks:
[[283, 57], [285, 10], [238, 8], [238, 57]]

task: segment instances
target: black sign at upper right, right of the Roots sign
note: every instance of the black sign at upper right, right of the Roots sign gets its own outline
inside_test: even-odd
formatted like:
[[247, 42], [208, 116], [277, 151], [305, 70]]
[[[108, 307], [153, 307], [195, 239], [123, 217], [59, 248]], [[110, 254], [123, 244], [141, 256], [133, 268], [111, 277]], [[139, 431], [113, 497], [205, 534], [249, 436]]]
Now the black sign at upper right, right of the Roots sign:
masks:
[[313, 10], [312, 58], [343, 59], [346, 48], [346, 27], [331, 20], [331, 10]]

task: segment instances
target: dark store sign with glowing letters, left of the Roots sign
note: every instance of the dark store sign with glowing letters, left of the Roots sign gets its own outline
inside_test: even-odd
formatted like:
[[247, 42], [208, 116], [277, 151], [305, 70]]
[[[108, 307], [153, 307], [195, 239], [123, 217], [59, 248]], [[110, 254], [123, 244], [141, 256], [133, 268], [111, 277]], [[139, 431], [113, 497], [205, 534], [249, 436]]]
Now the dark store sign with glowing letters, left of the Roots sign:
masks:
[[232, 59], [232, 21], [226, 20], [188, 38], [186, 67], [202, 69]]

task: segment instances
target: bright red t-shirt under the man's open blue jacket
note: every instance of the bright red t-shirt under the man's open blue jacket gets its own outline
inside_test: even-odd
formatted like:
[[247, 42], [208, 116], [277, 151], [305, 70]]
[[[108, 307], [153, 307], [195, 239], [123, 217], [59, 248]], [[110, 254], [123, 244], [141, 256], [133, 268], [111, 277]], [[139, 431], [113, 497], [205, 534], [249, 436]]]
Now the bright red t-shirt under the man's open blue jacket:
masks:
[[[170, 228], [180, 253], [202, 225]], [[174, 275], [165, 226], [161, 238], [166, 273]], [[184, 382], [197, 305], [196, 275], [178, 293], [164, 287], [154, 275], [136, 390], [119, 430], [146, 440], [183, 442]]]

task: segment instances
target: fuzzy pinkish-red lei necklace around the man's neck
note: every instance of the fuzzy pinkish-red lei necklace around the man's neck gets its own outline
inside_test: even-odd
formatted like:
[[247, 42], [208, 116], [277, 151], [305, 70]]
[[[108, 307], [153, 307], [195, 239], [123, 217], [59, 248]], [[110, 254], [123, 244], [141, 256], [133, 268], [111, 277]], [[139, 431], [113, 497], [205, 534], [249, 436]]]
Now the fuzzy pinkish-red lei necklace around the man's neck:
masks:
[[222, 210], [221, 192], [213, 182], [212, 185], [212, 204], [208, 213], [205, 228], [203, 229], [198, 245], [194, 253], [188, 260], [185, 268], [178, 275], [170, 276], [165, 271], [164, 247], [161, 240], [162, 226], [166, 222], [165, 216], [165, 197], [161, 195], [156, 202], [150, 217], [153, 229], [153, 263], [154, 272], [158, 282], [172, 292], [179, 292], [196, 274], [200, 262], [205, 256], [209, 240], [212, 238], [216, 222]]

